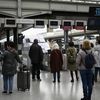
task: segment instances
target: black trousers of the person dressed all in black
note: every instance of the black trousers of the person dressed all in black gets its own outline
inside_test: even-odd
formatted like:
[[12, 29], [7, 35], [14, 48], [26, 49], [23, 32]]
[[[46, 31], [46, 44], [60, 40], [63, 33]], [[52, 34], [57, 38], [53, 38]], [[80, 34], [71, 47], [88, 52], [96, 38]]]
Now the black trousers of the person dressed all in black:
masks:
[[32, 64], [32, 79], [35, 79], [35, 76], [37, 76], [37, 79], [40, 79], [40, 64]]

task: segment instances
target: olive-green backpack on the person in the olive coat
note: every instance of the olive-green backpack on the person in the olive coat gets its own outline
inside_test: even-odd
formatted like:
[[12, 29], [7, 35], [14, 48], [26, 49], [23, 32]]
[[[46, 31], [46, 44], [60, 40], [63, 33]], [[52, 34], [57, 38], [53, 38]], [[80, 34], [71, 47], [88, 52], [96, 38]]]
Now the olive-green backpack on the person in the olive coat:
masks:
[[75, 48], [68, 48], [68, 50], [67, 50], [67, 62], [69, 64], [75, 64], [76, 63]]

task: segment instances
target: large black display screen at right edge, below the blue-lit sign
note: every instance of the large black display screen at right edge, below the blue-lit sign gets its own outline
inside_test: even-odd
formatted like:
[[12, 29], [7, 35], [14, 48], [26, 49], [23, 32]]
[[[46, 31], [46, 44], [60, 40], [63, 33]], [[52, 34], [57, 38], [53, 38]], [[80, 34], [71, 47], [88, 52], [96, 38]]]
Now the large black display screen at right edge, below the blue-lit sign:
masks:
[[87, 29], [88, 30], [100, 30], [100, 19], [99, 18], [88, 18]]

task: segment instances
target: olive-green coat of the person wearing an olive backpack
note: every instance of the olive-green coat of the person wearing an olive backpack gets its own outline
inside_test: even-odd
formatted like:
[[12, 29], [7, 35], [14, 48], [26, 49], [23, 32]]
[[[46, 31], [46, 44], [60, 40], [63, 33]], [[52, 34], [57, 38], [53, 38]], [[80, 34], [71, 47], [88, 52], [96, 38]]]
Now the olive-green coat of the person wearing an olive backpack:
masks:
[[[67, 53], [68, 53], [68, 49], [70, 48], [74, 48], [75, 49], [75, 55], [77, 55], [77, 49], [75, 47], [68, 47], [67, 48]], [[68, 60], [68, 56], [67, 56], [67, 60]], [[74, 71], [74, 70], [77, 70], [77, 66], [76, 66], [76, 63], [68, 63], [67, 61], [67, 68], [70, 70], [70, 71]]]

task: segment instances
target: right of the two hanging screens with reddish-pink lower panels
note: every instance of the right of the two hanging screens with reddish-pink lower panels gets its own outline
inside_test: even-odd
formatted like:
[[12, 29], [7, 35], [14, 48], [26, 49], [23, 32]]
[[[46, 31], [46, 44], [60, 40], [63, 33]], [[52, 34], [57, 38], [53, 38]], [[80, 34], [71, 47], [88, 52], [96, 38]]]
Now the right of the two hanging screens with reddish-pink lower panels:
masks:
[[87, 21], [76, 20], [75, 21], [75, 27], [74, 28], [76, 30], [84, 30], [86, 24], [87, 24]]

